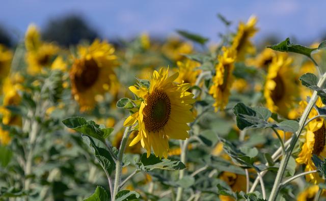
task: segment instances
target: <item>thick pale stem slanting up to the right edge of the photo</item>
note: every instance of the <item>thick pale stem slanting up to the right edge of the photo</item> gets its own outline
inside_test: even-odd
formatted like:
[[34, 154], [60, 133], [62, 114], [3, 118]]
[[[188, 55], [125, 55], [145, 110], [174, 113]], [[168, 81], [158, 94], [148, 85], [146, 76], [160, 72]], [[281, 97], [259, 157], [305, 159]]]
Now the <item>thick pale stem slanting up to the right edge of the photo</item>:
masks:
[[[322, 76], [321, 79], [319, 79], [317, 86], [321, 87], [324, 84], [325, 80], [326, 80], [326, 73]], [[285, 157], [283, 157], [281, 160], [281, 164], [280, 164], [280, 167], [279, 167], [276, 179], [275, 179], [275, 183], [273, 185], [273, 189], [271, 189], [268, 201], [275, 201], [277, 198], [277, 195], [280, 191], [280, 187], [281, 187], [280, 184], [281, 184], [281, 181], [282, 181], [282, 178], [284, 175], [284, 171], [285, 171], [287, 163], [291, 157], [295, 143], [298, 140], [298, 138], [300, 137], [300, 134], [301, 134], [302, 130], [304, 129], [305, 123], [308, 119], [309, 113], [310, 113], [311, 109], [313, 108], [313, 106], [315, 105], [317, 99], [318, 99], [317, 92], [314, 91], [314, 93], [312, 94], [312, 97], [309, 100], [309, 103], [299, 121], [299, 129], [296, 131], [295, 135], [293, 135], [291, 142], [290, 142], [290, 146], [286, 150]]]

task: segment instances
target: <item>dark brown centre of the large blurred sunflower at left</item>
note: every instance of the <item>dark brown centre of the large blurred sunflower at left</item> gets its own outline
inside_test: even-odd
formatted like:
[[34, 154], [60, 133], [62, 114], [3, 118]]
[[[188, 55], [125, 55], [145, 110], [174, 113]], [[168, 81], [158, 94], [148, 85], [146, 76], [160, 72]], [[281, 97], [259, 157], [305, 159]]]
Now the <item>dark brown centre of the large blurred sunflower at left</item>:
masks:
[[95, 60], [85, 60], [80, 66], [83, 70], [75, 75], [75, 83], [78, 91], [84, 91], [92, 87], [99, 75], [99, 68]]

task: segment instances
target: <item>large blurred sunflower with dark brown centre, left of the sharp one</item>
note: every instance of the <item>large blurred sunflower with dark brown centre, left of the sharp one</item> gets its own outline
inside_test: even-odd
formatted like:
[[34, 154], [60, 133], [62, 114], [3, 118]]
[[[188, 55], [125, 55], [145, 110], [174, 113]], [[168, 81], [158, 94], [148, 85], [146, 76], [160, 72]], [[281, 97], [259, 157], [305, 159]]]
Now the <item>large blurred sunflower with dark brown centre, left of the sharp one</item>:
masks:
[[113, 68], [117, 65], [115, 49], [111, 44], [95, 40], [90, 46], [78, 47], [78, 58], [75, 58], [70, 69], [71, 93], [79, 103], [80, 111], [92, 109], [95, 97], [104, 92], [116, 93], [116, 74]]

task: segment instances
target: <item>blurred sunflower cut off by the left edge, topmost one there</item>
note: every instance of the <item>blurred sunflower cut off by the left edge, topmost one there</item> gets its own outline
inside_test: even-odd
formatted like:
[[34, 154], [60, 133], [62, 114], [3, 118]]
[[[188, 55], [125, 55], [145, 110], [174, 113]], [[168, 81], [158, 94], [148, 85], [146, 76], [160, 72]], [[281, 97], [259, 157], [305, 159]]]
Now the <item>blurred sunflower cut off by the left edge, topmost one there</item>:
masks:
[[12, 56], [12, 52], [0, 44], [0, 82], [9, 74]]

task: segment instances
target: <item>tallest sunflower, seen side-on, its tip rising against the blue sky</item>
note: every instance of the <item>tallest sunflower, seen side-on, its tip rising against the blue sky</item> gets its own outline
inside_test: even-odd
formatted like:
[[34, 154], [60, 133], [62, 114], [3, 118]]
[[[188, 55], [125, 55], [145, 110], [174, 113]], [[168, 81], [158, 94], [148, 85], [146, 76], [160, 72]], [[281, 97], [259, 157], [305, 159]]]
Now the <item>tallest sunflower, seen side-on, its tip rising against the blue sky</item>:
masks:
[[257, 17], [255, 16], [250, 17], [247, 24], [239, 23], [238, 31], [232, 42], [232, 48], [237, 52], [237, 61], [243, 61], [247, 53], [255, 53], [256, 49], [250, 38], [258, 31], [256, 23]]

